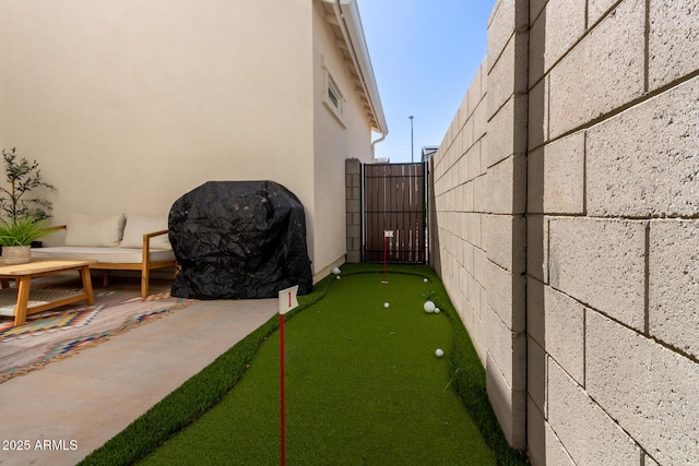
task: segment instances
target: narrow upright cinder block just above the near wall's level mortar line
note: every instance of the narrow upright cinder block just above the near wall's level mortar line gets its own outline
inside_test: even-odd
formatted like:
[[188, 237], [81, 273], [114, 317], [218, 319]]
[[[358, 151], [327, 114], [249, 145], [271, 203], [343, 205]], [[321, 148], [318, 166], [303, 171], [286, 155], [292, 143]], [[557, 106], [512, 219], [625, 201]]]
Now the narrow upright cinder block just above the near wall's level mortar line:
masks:
[[[585, 195], [584, 133], [547, 144], [544, 147], [544, 212], [582, 214]], [[531, 167], [530, 167], [531, 171]], [[528, 172], [530, 182], [538, 174]]]

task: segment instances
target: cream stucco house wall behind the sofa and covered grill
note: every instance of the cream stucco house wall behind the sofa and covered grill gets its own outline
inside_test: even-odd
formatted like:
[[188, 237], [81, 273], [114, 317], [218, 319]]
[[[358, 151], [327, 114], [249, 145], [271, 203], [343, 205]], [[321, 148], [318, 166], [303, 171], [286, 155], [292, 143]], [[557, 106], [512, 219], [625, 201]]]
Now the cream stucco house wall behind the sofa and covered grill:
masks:
[[2, 0], [0, 146], [39, 160], [57, 223], [166, 215], [208, 180], [246, 179], [286, 186], [312, 220], [311, 10]]

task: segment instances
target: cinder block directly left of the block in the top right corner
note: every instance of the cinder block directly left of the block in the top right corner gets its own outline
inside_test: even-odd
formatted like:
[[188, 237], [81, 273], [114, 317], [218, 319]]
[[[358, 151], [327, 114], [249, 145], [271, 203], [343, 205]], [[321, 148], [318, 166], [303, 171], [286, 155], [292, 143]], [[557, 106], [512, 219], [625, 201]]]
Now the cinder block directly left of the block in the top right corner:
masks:
[[643, 94], [644, 12], [644, 0], [624, 1], [552, 69], [552, 138]]

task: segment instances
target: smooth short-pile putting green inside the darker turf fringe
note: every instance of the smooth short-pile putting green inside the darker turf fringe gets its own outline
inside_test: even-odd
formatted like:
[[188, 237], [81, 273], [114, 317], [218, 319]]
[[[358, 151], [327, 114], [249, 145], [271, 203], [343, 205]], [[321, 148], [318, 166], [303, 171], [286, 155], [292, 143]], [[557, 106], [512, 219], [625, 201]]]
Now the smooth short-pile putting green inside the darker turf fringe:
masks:
[[[451, 322], [423, 310], [422, 276], [345, 276], [285, 324], [288, 464], [461, 464], [495, 458], [452, 386]], [[384, 302], [391, 306], [383, 307]], [[280, 333], [245, 377], [143, 465], [277, 464]]]

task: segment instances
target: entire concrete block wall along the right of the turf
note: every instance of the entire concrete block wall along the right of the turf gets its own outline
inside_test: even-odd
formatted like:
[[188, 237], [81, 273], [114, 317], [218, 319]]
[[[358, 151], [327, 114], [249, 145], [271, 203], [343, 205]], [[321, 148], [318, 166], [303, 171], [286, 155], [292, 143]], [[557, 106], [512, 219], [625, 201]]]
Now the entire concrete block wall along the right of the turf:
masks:
[[499, 0], [433, 251], [532, 464], [699, 464], [699, 2]]

